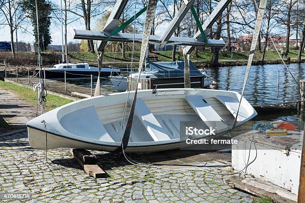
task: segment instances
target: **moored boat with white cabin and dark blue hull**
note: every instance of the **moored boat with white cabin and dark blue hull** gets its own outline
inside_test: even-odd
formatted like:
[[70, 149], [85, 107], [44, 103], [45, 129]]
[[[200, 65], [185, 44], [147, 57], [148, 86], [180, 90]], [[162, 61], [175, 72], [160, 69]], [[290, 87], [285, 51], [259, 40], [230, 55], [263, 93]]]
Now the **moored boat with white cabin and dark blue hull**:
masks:
[[[36, 73], [39, 69], [35, 70]], [[90, 67], [88, 63], [61, 63], [55, 64], [52, 68], [43, 68], [41, 77], [46, 79], [66, 78], [90, 78], [91, 75], [98, 76], [99, 68]], [[117, 68], [102, 68], [100, 77], [117, 76], [120, 74], [120, 69]]]

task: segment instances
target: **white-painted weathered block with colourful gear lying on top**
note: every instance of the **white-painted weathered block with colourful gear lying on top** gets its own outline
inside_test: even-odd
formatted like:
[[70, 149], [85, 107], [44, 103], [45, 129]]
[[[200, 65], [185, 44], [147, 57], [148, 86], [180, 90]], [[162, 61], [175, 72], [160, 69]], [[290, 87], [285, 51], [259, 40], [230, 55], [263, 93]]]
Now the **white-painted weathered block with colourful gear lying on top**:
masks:
[[[232, 167], [245, 171], [252, 178], [285, 188], [295, 195], [296, 201], [303, 134], [303, 130], [289, 130], [287, 135], [272, 136], [258, 130], [242, 133], [235, 137], [238, 144], [232, 145]], [[249, 157], [249, 161], [245, 157]], [[251, 164], [245, 168], [242, 160]]]

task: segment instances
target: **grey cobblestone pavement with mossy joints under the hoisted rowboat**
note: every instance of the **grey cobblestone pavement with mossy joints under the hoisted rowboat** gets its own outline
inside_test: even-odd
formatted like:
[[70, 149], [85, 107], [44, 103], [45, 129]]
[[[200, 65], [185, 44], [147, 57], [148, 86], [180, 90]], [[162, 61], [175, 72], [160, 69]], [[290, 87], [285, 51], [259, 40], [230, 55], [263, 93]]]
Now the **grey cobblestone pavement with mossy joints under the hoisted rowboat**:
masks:
[[[252, 203], [219, 175], [130, 165], [121, 154], [95, 152], [106, 179], [88, 176], [68, 149], [32, 149], [27, 133], [0, 136], [0, 192], [31, 193], [29, 202]], [[141, 160], [140, 160], [141, 161]], [[214, 168], [215, 169], [215, 168]], [[222, 169], [215, 169], [222, 172]], [[4, 200], [4, 202], [12, 200]], [[24, 200], [14, 200], [14, 202]]]

